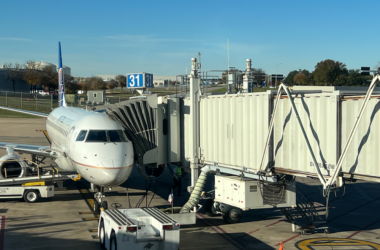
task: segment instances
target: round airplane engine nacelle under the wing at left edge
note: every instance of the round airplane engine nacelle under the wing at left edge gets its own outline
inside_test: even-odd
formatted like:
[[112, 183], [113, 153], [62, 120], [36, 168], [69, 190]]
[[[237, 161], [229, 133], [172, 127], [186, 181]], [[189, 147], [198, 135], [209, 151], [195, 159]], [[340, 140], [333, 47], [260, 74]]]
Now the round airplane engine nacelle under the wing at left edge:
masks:
[[28, 165], [19, 155], [8, 154], [0, 158], [0, 179], [25, 177]]

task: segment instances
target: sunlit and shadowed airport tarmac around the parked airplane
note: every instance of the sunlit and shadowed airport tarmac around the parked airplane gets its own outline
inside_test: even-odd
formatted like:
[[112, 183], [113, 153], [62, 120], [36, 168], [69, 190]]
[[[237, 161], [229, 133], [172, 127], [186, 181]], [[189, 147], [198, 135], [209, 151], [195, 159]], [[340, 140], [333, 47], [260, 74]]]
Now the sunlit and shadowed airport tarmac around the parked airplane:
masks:
[[[0, 141], [48, 145], [37, 129], [45, 129], [45, 119], [1, 118]], [[0, 150], [0, 155], [5, 153]], [[185, 191], [187, 178], [183, 179], [182, 196], [174, 197], [174, 206], [182, 206], [189, 198]], [[209, 176], [205, 190], [212, 187], [212, 179]], [[109, 206], [121, 203], [122, 208], [136, 207], [138, 203], [140, 207], [169, 207], [167, 198], [172, 185], [172, 176], [166, 171], [150, 185], [147, 199], [141, 201], [149, 182], [134, 169], [123, 185], [107, 191], [105, 200]], [[297, 186], [324, 214], [326, 200], [318, 180], [298, 178]], [[0, 250], [100, 249], [89, 183], [70, 180], [64, 182], [64, 187], [56, 189], [54, 197], [37, 203], [0, 200]], [[181, 227], [180, 249], [279, 249], [280, 242], [283, 249], [380, 249], [380, 184], [347, 183], [342, 195], [343, 190], [336, 197], [334, 193], [330, 196], [325, 225], [329, 227], [328, 234], [323, 230], [305, 235], [299, 230], [294, 233], [285, 216], [275, 208], [244, 212], [236, 224], [226, 224], [221, 217], [208, 217], [200, 209], [196, 225]]]

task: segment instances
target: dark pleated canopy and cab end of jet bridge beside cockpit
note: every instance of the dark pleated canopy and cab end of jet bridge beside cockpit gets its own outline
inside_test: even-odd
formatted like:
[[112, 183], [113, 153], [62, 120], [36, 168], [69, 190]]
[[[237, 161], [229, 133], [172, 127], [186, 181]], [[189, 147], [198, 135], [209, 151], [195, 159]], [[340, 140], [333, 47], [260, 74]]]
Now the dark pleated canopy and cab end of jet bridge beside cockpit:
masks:
[[135, 162], [146, 177], [161, 175], [163, 164], [181, 162], [180, 102], [179, 98], [141, 96], [105, 111], [124, 127], [134, 145]]

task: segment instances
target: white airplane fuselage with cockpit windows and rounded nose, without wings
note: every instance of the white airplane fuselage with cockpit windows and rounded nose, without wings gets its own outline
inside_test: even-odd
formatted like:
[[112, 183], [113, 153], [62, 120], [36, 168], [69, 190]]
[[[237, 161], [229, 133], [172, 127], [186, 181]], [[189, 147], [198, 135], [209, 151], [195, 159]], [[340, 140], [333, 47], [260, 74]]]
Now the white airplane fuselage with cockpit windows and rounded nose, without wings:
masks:
[[76, 171], [87, 181], [106, 187], [120, 185], [130, 176], [132, 142], [126, 137], [126, 140], [115, 139], [117, 133], [125, 136], [120, 132], [124, 129], [107, 115], [58, 107], [49, 114], [46, 129], [52, 151], [61, 152], [55, 160], [60, 169]]

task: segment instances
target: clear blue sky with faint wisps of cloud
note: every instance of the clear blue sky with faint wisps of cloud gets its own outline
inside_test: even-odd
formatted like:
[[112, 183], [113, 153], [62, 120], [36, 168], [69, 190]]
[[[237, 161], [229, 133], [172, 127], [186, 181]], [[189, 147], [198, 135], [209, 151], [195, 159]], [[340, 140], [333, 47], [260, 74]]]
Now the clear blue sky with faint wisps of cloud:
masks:
[[380, 61], [379, 0], [12, 0], [0, 7], [0, 65], [58, 64], [60, 41], [73, 76], [180, 75], [198, 52], [202, 71], [244, 70], [248, 58], [284, 75], [326, 59], [348, 69]]

